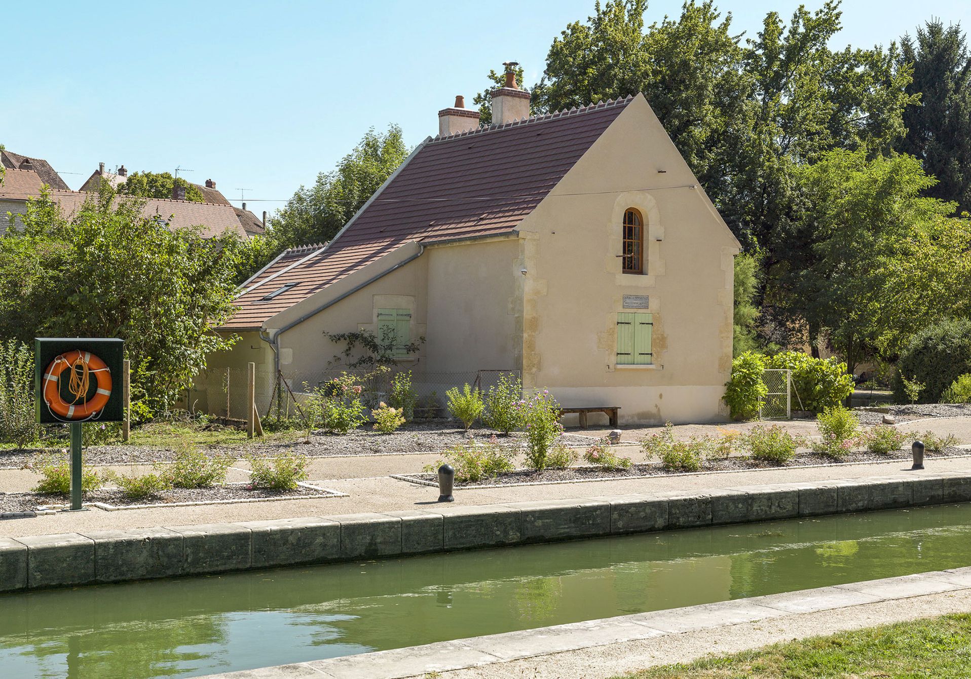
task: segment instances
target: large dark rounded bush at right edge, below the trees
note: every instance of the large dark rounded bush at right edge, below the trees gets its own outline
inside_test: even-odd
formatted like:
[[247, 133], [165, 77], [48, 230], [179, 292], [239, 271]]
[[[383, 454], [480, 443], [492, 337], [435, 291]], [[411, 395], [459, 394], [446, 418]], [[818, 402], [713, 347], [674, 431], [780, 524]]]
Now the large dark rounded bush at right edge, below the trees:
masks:
[[941, 394], [965, 373], [971, 373], [971, 320], [942, 321], [919, 330], [897, 360], [891, 388], [905, 402], [903, 376], [925, 385], [921, 403], [937, 403]]

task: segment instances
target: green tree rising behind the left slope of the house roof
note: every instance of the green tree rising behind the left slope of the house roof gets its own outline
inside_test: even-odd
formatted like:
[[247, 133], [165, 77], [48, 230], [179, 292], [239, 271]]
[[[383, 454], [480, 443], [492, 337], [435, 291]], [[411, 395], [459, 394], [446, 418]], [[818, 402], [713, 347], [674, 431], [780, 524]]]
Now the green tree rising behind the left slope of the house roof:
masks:
[[280, 248], [323, 243], [351, 220], [368, 198], [408, 156], [401, 128], [384, 134], [368, 130], [331, 172], [321, 172], [313, 187], [300, 187], [270, 221]]

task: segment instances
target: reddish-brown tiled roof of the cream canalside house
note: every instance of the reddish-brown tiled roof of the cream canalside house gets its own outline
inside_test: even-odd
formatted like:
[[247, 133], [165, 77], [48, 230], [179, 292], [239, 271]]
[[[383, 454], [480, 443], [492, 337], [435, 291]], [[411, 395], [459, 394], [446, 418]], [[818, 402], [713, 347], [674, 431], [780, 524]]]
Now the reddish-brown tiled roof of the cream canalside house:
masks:
[[248, 281], [224, 327], [258, 328], [405, 243], [512, 233], [632, 99], [425, 140], [330, 244], [287, 251]]

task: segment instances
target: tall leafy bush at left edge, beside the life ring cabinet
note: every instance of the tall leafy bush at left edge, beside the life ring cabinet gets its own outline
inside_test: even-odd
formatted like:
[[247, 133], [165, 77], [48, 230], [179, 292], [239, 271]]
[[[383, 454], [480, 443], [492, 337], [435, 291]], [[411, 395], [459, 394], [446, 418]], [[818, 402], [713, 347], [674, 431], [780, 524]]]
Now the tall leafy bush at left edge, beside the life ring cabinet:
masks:
[[0, 342], [0, 443], [22, 449], [40, 433], [34, 412], [34, 353], [17, 340]]

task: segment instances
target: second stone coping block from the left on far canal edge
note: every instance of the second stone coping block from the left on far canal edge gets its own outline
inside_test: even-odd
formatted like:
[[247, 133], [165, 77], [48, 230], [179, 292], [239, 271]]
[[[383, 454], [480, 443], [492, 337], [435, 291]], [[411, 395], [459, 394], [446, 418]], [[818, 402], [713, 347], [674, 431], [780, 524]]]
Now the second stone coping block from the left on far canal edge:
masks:
[[63, 587], [94, 580], [94, 540], [78, 533], [17, 539], [27, 546], [27, 587]]

